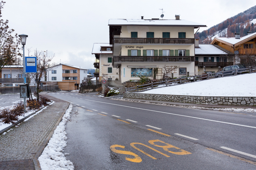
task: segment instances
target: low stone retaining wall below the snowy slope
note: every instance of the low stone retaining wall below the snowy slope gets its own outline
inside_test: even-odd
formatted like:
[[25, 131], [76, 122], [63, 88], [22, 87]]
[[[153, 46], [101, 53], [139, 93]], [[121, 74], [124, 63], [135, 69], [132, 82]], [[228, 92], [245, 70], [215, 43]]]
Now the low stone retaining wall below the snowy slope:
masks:
[[208, 103], [223, 105], [256, 105], [256, 97], [205, 97], [205, 96], [185, 96], [185, 95], [167, 95], [167, 94], [143, 94], [143, 93], [124, 93], [124, 98], [176, 101], [187, 103]]

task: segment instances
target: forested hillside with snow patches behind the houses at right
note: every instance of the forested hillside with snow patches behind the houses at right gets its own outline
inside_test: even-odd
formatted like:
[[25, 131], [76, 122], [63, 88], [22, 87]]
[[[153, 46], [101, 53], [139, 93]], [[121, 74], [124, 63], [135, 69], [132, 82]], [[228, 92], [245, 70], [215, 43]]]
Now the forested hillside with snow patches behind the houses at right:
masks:
[[209, 44], [214, 37], [235, 37], [235, 33], [241, 33], [240, 35], [243, 37], [249, 31], [256, 32], [256, 5], [208, 30], [197, 32], [195, 38], [199, 38], [200, 44]]

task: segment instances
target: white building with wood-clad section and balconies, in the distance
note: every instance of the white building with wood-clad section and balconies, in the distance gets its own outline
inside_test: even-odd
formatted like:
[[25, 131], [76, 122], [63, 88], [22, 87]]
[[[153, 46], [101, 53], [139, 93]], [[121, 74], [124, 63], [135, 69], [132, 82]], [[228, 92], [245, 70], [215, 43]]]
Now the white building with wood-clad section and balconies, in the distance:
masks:
[[[61, 90], [78, 90], [82, 80], [87, 78], [88, 69], [68, 64], [59, 64], [47, 69], [44, 83], [59, 85]], [[43, 79], [42, 79], [43, 81]]]

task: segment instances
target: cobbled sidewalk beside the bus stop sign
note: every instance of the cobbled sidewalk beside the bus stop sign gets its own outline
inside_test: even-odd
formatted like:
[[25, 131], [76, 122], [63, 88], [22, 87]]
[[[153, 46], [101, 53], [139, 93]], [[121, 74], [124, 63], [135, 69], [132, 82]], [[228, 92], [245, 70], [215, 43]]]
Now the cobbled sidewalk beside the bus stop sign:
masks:
[[69, 103], [45, 93], [40, 95], [55, 101], [38, 115], [22, 122], [0, 137], [0, 169], [23, 170], [39, 169], [37, 158], [51, 138], [65, 114]]

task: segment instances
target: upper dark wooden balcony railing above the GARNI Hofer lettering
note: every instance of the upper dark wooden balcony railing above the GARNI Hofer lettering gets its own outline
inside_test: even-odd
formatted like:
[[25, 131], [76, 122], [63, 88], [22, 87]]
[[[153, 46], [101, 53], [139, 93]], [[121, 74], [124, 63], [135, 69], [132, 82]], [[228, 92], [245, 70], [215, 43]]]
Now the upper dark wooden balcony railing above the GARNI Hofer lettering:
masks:
[[194, 38], [114, 38], [117, 44], [194, 44]]

